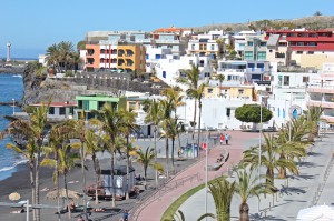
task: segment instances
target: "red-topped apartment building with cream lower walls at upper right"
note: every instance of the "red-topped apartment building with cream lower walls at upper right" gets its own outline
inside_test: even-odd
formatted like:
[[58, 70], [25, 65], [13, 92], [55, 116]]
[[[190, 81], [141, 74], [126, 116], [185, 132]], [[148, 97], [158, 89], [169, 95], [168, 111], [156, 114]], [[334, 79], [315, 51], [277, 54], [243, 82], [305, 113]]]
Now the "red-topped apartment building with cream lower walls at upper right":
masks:
[[268, 30], [265, 40], [268, 44], [268, 60], [282, 64], [313, 67], [318, 70], [323, 63], [334, 62], [334, 34], [328, 30]]

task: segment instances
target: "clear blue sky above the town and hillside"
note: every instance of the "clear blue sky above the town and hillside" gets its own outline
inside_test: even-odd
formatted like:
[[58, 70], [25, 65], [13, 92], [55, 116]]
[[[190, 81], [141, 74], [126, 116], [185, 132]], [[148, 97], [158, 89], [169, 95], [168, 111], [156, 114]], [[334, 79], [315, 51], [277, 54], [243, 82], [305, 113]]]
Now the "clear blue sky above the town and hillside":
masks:
[[333, 16], [334, 0], [3, 0], [0, 57], [37, 58], [52, 43], [75, 44], [94, 30], [145, 30], [244, 23], [249, 19], [294, 19], [321, 11]]

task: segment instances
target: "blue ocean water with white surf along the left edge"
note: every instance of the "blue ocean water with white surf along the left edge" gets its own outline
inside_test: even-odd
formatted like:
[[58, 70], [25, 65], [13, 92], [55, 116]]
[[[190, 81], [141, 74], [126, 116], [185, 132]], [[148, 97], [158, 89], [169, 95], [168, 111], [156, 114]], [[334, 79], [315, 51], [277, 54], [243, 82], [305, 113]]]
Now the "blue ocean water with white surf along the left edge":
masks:
[[[23, 94], [23, 81], [18, 74], [0, 74], [0, 102], [12, 102], [12, 99], [20, 101]], [[12, 106], [0, 106], [0, 131], [4, 130], [9, 120], [3, 115], [10, 115], [20, 108]], [[10, 137], [6, 137], [0, 141], [0, 180], [4, 180], [17, 171], [17, 165], [26, 163], [27, 160], [14, 152], [7, 149], [6, 144], [11, 142]]]

